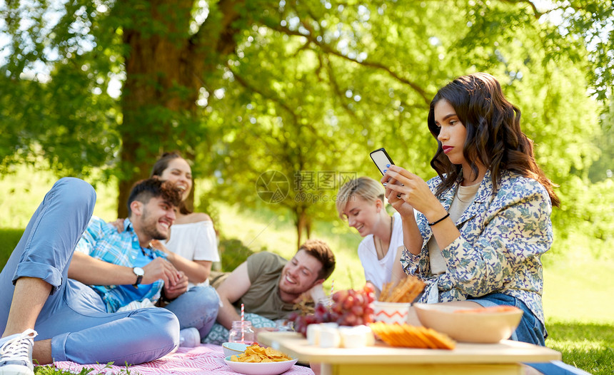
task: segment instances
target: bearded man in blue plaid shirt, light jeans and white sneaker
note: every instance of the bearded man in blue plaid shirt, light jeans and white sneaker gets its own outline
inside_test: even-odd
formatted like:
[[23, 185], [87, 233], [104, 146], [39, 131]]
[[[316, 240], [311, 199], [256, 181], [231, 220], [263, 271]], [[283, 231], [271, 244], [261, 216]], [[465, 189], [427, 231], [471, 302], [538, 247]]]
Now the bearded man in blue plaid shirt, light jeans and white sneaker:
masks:
[[[0, 373], [34, 374], [33, 357], [39, 364], [140, 364], [175, 349], [180, 329], [200, 337], [215, 322], [213, 288], [186, 292], [181, 269], [149, 247], [168, 236], [177, 192], [157, 180], [137, 184], [121, 235], [91, 220], [95, 202], [85, 181], [59, 180], [0, 272]], [[132, 309], [161, 295], [166, 308]]]

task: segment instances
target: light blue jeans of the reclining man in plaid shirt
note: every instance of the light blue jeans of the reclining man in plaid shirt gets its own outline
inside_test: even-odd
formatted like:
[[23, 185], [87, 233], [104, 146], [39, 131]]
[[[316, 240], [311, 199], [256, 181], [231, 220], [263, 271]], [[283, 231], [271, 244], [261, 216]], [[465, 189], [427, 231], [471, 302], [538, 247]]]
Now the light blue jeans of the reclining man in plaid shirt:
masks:
[[0, 332], [14, 282], [36, 277], [52, 287], [34, 326], [36, 340], [51, 339], [55, 361], [123, 365], [158, 359], [179, 342], [179, 322], [172, 312], [148, 308], [109, 314], [93, 289], [67, 277], [95, 202], [91, 185], [76, 178], [62, 178], [47, 193], [0, 273]]

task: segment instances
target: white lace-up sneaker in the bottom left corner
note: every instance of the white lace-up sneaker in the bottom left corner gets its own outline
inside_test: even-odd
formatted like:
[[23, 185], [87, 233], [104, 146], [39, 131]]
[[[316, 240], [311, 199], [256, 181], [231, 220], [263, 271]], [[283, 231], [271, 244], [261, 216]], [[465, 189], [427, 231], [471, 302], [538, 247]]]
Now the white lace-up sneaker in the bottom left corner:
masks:
[[34, 375], [34, 329], [0, 339], [0, 375]]

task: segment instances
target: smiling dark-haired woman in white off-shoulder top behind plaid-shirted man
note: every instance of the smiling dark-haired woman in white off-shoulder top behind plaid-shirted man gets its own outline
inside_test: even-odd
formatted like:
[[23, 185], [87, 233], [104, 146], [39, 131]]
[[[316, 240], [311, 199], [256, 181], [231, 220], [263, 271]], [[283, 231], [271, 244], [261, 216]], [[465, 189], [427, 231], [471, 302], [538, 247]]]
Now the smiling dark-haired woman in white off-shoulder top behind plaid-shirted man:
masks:
[[[154, 164], [151, 177], [174, 183], [183, 192], [183, 202], [193, 187], [192, 169], [177, 152], [164, 153]], [[191, 212], [183, 204], [178, 209], [168, 240], [154, 240], [151, 245], [166, 252], [168, 260], [173, 264], [182, 264], [178, 269], [186, 273], [190, 287], [207, 282], [211, 264], [220, 260], [211, 217], [203, 212]]]

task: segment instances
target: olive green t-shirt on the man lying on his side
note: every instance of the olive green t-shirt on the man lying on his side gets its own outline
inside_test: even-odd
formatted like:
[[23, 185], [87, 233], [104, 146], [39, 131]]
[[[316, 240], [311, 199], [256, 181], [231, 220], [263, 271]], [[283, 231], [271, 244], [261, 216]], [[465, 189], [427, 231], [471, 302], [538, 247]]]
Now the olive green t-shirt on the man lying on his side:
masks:
[[267, 319], [288, 319], [293, 309], [293, 303], [286, 303], [279, 297], [279, 278], [281, 269], [288, 261], [272, 252], [257, 252], [247, 258], [247, 274], [251, 287], [246, 294], [235, 302], [234, 306], [241, 311], [258, 314]]

